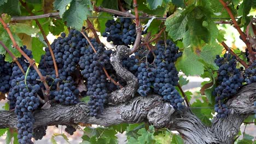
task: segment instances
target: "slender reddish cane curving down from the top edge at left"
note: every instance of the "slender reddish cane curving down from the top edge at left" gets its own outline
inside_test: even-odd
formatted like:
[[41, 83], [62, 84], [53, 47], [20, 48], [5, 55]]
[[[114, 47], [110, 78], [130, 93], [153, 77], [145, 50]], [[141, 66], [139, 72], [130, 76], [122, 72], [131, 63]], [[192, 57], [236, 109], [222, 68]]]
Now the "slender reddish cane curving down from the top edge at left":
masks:
[[[28, 13], [30, 13], [31, 16], [34, 16], [34, 13], [32, 13], [31, 9], [27, 7], [27, 4], [26, 2], [23, 2], [22, 0], [19, 0], [21, 5], [26, 8], [26, 10], [28, 11]], [[56, 74], [56, 78], [59, 78], [59, 71], [58, 71], [58, 67], [57, 67], [57, 63], [55, 61], [55, 56], [54, 56], [54, 52], [53, 52], [53, 49], [51, 49], [51, 45], [49, 43], [49, 40], [47, 39], [46, 37], [46, 34], [44, 32], [44, 29], [43, 27], [40, 25], [39, 21], [37, 19], [35, 19], [34, 21], [36, 21], [37, 23], [37, 26], [39, 27], [43, 37], [44, 37], [44, 41], [45, 43], [47, 44], [48, 48], [49, 48], [49, 51], [51, 53], [51, 57], [53, 58], [53, 63], [54, 63], [54, 69], [55, 69], [55, 74]], [[57, 85], [57, 87], [59, 87], [59, 85]]]

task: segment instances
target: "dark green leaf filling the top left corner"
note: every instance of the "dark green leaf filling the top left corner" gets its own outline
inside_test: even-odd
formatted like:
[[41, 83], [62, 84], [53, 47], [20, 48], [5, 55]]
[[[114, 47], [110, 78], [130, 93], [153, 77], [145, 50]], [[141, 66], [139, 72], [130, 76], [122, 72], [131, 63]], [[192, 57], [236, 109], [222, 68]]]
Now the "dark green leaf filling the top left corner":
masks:
[[0, 14], [6, 13], [9, 15], [20, 15], [19, 0], [8, 0], [6, 3], [0, 5]]

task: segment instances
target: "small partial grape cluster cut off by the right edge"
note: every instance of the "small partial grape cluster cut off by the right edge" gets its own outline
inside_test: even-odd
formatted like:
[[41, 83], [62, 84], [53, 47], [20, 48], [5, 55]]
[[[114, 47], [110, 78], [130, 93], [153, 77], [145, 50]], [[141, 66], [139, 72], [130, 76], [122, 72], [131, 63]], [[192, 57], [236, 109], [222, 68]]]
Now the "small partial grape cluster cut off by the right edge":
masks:
[[256, 61], [254, 61], [252, 65], [249, 66], [248, 69], [245, 69], [245, 82], [256, 82]]

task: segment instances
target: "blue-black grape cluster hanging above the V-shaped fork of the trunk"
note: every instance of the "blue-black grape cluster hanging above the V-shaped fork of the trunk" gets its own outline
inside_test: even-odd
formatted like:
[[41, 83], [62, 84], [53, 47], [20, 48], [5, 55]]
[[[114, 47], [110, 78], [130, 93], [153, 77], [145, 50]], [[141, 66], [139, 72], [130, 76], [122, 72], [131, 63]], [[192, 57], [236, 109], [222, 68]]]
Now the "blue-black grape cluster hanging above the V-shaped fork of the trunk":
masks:
[[224, 118], [229, 113], [224, 101], [238, 91], [244, 79], [241, 76], [240, 69], [236, 68], [236, 57], [230, 53], [225, 53], [224, 57], [217, 55], [214, 62], [219, 67], [219, 85], [212, 92], [216, 101], [214, 110], [218, 113], [217, 118]]

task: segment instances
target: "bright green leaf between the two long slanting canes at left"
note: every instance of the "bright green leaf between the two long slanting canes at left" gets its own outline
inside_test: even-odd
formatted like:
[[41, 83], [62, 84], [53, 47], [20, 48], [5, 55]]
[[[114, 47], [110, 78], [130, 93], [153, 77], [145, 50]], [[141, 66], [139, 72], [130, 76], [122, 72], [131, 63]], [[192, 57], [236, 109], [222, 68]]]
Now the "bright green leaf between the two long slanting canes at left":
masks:
[[44, 44], [38, 39], [33, 37], [32, 38], [32, 55], [34, 60], [37, 63], [40, 62], [41, 56], [44, 55], [45, 51], [43, 50]]

